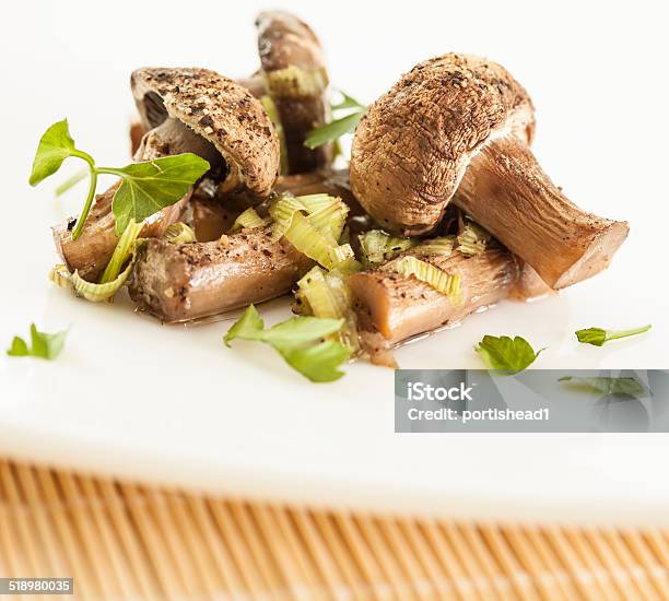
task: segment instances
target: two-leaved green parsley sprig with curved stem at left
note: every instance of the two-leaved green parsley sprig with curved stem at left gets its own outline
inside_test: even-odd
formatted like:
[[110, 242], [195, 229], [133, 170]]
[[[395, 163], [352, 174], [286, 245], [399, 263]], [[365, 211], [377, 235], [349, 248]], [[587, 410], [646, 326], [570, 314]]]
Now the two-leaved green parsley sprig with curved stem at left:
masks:
[[[89, 193], [72, 239], [83, 229], [86, 216], [95, 198], [98, 175], [115, 175], [121, 185], [114, 195], [111, 211], [116, 220], [116, 233], [121, 235], [127, 225], [134, 221], [141, 223], [146, 217], [179, 201], [188, 189], [209, 170], [209, 163], [192, 153], [155, 158], [145, 163], [132, 163], [125, 167], [98, 167], [93, 157], [79, 149], [70, 135], [67, 119], [49, 127], [39, 140], [30, 177], [31, 186], [54, 175], [66, 158], [71, 156], [83, 160], [89, 166]], [[57, 190], [62, 193], [83, 179], [80, 174], [63, 182]]]

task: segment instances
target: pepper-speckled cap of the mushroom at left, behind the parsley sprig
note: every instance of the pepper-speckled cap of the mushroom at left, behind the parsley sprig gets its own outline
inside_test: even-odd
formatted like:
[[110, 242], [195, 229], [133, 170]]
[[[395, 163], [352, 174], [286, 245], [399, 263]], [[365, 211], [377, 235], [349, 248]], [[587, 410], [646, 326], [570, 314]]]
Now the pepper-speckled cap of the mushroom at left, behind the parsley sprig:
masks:
[[227, 191], [266, 198], [279, 175], [274, 126], [242, 85], [208, 69], [143, 68], [130, 78], [142, 122], [152, 129], [178, 119], [225, 160]]

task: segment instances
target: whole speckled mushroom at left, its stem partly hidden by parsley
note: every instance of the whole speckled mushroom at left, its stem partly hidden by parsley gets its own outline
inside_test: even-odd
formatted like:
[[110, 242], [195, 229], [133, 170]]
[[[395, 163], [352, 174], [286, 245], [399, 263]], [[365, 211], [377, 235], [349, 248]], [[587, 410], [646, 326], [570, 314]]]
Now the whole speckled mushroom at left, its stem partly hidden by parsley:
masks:
[[[244, 87], [206, 69], [139, 69], [131, 84], [148, 130], [137, 161], [192, 152], [209, 161], [208, 176], [228, 196], [259, 202], [269, 195], [278, 176], [279, 141], [262, 106]], [[71, 222], [54, 231], [68, 269], [84, 279], [99, 275], [118, 241], [113, 197], [114, 189], [96, 197], [78, 239], [70, 234]], [[161, 236], [187, 200], [149, 219], [142, 237]]]

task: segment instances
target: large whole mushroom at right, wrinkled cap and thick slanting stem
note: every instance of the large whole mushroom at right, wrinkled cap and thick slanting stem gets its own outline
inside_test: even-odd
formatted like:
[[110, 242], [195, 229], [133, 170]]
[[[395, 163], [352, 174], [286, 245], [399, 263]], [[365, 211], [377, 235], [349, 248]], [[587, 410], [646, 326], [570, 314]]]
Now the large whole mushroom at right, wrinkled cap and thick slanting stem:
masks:
[[404, 235], [432, 231], [453, 198], [550, 286], [568, 286], [608, 267], [629, 226], [582, 211], [552, 184], [528, 148], [533, 128], [528, 94], [501, 66], [424, 61], [363, 117], [353, 192]]

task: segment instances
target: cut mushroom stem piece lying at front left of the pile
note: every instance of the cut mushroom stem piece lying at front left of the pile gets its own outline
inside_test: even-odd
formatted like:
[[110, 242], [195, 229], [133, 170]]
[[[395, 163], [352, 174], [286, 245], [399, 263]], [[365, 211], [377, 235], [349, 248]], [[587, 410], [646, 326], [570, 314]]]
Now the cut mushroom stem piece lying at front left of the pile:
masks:
[[164, 321], [187, 321], [281, 296], [313, 261], [270, 228], [221, 240], [174, 245], [151, 239], [140, 249], [130, 297]]

